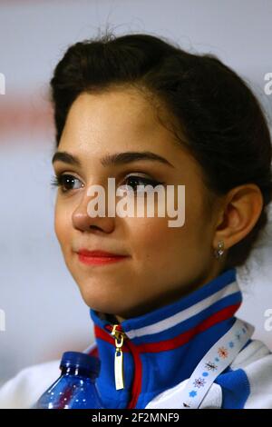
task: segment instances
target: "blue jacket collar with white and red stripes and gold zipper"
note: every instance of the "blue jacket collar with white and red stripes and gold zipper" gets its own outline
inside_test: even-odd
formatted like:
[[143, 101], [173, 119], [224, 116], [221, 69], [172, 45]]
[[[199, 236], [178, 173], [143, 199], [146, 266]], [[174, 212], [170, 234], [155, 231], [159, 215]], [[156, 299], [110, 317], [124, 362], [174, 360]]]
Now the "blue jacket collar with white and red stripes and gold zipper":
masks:
[[[226, 270], [175, 303], [114, 323], [90, 310], [97, 353], [97, 380], [106, 408], [144, 408], [157, 394], [188, 378], [209, 348], [231, 328], [242, 302], [235, 268]], [[113, 325], [124, 336], [124, 388], [116, 390]]]

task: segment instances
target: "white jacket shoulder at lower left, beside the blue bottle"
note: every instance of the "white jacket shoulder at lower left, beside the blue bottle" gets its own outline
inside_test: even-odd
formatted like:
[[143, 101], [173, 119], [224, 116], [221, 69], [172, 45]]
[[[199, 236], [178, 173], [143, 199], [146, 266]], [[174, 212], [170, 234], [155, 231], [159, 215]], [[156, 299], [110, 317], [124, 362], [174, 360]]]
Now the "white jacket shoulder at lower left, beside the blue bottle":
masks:
[[31, 408], [43, 392], [60, 376], [60, 361], [30, 366], [0, 388], [0, 409]]

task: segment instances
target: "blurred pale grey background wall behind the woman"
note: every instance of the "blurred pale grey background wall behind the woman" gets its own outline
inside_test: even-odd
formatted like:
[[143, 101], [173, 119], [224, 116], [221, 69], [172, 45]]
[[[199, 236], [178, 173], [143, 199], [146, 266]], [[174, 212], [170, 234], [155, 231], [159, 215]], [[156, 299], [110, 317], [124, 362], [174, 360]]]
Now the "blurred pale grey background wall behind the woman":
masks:
[[[271, 0], [1, 0], [0, 383], [25, 366], [59, 359], [93, 341], [88, 307], [53, 231], [54, 151], [48, 82], [68, 45], [110, 27], [116, 35], [168, 37], [193, 53], [209, 52], [251, 84], [271, 124]], [[0, 91], [1, 92], [1, 91]], [[272, 309], [272, 213], [242, 268], [238, 316], [272, 349], [265, 312]], [[3, 313], [2, 318], [3, 318]]]

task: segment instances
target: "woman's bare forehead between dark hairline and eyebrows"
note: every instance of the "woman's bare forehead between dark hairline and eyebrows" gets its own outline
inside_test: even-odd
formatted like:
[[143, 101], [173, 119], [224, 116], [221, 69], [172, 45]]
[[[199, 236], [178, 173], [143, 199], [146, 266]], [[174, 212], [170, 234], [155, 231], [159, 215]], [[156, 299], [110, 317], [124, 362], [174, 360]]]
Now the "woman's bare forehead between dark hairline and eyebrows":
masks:
[[188, 150], [160, 123], [157, 114], [164, 123], [167, 114], [155, 105], [133, 88], [80, 94], [67, 115], [58, 151], [76, 155], [83, 164], [98, 161], [104, 154], [150, 151], [177, 170], [199, 172]]

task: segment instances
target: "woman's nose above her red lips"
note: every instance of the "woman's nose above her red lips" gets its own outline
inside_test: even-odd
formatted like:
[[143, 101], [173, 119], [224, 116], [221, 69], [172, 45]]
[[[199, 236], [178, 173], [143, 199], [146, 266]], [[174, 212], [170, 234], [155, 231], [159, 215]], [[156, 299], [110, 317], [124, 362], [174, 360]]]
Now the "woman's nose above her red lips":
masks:
[[[105, 199], [107, 199], [107, 197], [105, 197]], [[107, 205], [105, 204], [104, 209], [105, 216], [102, 216], [102, 213], [98, 212], [97, 216], [92, 217], [90, 214], [88, 214], [88, 204], [91, 201], [92, 197], [87, 195], [87, 191], [85, 191], [80, 203], [73, 211], [73, 227], [82, 232], [98, 229], [103, 233], [112, 233], [112, 230], [114, 229], [115, 218], [107, 216]], [[95, 206], [95, 209], [97, 210], [97, 205]]]

